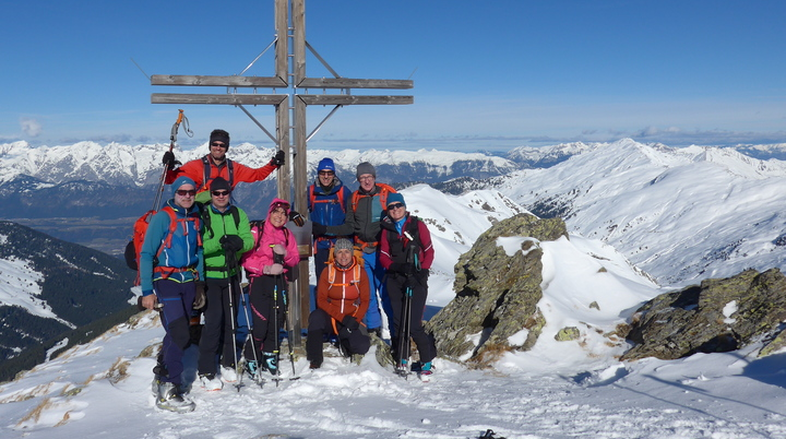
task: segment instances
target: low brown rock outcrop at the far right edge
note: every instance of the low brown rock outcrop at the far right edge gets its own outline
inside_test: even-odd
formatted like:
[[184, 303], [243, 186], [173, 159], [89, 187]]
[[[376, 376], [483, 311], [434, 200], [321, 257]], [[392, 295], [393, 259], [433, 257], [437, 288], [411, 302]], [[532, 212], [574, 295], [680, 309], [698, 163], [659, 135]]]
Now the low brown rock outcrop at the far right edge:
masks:
[[[786, 276], [777, 269], [736, 276], [655, 297], [633, 316], [628, 340], [636, 345], [622, 359], [676, 359], [695, 353], [729, 352], [765, 340], [761, 354], [783, 347]], [[772, 340], [772, 341], [769, 341]]]

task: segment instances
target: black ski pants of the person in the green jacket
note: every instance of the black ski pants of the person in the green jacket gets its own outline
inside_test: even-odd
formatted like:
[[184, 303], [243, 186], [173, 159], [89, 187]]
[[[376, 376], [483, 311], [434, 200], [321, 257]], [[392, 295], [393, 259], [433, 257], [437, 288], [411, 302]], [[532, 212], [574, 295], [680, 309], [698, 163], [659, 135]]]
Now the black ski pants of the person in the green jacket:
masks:
[[[235, 367], [236, 342], [233, 328], [237, 328], [235, 316], [238, 310], [240, 285], [228, 278], [205, 280], [207, 302], [204, 312], [204, 327], [200, 337], [200, 357], [196, 364], [200, 375], [215, 375], [216, 364]], [[230, 304], [231, 299], [231, 304]]]

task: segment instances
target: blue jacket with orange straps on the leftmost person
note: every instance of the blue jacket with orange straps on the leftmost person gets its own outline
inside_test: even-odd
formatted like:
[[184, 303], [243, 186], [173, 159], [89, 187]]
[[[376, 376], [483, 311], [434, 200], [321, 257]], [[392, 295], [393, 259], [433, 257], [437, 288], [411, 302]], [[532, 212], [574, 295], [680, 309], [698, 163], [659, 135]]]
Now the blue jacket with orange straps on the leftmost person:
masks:
[[[177, 218], [199, 218], [199, 209], [193, 205], [189, 211], [175, 204], [174, 200], [167, 201], [167, 205], [175, 210]], [[142, 252], [140, 254], [140, 283], [142, 286], [142, 295], [153, 294], [153, 281], [164, 277], [163, 273], [155, 270], [153, 261], [157, 256], [158, 264], [156, 266], [166, 266], [174, 269], [187, 269], [184, 271], [176, 271], [168, 275], [169, 280], [176, 282], [190, 282], [195, 278], [204, 280], [204, 260], [202, 257], [202, 246], [200, 246], [200, 229], [195, 228], [194, 222], [183, 222], [186, 226], [175, 229], [171, 237], [171, 247], [166, 248], [164, 241], [169, 235], [169, 214], [163, 210], [158, 211], [145, 232], [145, 240], [142, 244]], [[202, 222], [200, 221], [200, 228]], [[162, 248], [160, 254], [158, 249]], [[196, 277], [198, 276], [198, 277]]]

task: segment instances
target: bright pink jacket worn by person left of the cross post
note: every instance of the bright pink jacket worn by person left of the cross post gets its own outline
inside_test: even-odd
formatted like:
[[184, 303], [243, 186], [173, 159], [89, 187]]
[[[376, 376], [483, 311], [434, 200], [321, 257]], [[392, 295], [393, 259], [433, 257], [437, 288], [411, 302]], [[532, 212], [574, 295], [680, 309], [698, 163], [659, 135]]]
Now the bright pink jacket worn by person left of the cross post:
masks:
[[[267, 210], [267, 218], [262, 225], [262, 237], [260, 238], [259, 226], [251, 227], [251, 235], [254, 239], [254, 247], [251, 251], [247, 252], [240, 265], [248, 272], [251, 277], [259, 277], [264, 275], [264, 268], [272, 265], [273, 262], [273, 246], [281, 244], [286, 249], [284, 256], [284, 272], [289, 271], [291, 266], [295, 266], [300, 262], [300, 256], [298, 254], [297, 242], [295, 236], [286, 227], [274, 227], [270, 221], [270, 214], [273, 211], [273, 206], [277, 203], [286, 203], [281, 199], [273, 199], [271, 206]], [[289, 215], [289, 209], [287, 216]]]

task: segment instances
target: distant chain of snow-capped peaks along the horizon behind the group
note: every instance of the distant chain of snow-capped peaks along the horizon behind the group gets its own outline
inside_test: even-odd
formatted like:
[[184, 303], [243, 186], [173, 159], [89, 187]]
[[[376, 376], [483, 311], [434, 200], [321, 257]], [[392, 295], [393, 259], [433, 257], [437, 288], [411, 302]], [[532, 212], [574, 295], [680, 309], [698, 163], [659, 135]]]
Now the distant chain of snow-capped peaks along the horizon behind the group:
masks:
[[[158, 181], [162, 156], [167, 144], [123, 145], [79, 142], [66, 146], [33, 147], [27, 142], [0, 144], [0, 182], [22, 175], [50, 183], [73, 180], [105, 181], [114, 185], [150, 185]], [[205, 145], [192, 150], [175, 149], [176, 158], [186, 163], [207, 153]], [[275, 154], [271, 147], [250, 143], [233, 144], [227, 156], [250, 167], [267, 164]], [[378, 174], [396, 181], [433, 181], [469, 175], [486, 178], [519, 168], [510, 159], [480, 153], [457, 153], [438, 150], [310, 150], [307, 168], [311, 173], [319, 161], [331, 157], [340, 176], [349, 178], [361, 162], [379, 167]], [[380, 173], [381, 171], [381, 173]]]

